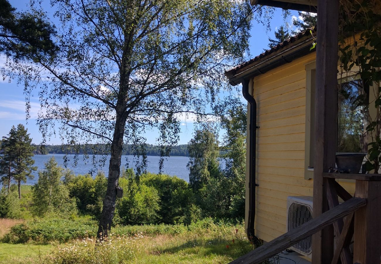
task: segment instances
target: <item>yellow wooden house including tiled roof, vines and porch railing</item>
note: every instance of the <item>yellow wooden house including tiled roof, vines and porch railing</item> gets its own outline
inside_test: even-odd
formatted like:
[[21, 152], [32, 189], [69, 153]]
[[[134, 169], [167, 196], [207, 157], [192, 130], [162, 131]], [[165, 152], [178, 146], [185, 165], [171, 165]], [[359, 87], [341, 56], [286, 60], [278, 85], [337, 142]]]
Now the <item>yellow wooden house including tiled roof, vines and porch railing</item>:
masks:
[[[315, 10], [319, 27], [316, 35], [312, 29], [300, 32], [226, 71], [232, 85], [242, 84], [248, 101], [247, 236], [255, 242], [257, 238], [269, 242], [231, 263], [259, 264], [290, 247], [309, 256], [313, 264], [380, 261], [381, 174], [360, 173], [360, 167], [359, 171], [332, 171], [338, 163], [338, 83], [343, 87], [362, 82], [351, 72], [343, 76], [343, 68], [337, 74], [339, 7], [352, 15], [355, 2], [380, 13], [379, 0], [351, 1], [251, 0], [253, 5]], [[357, 42], [363, 39], [357, 39], [355, 32], [342, 33], [353, 35], [344, 42], [346, 46], [365, 47], [364, 42]], [[311, 50], [315, 41], [317, 46]], [[377, 67], [372, 71], [379, 72]], [[374, 84], [369, 89], [362, 87], [363, 98], [369, 102], [379, 97], [379, 83]], [[379, 108], [369, 108], [367, 114], [376, 116]], [[361, 134], [360, 141], [365, 142], [370, 134]], [[378, 134], [372, 140], [379, 140]], [[298, 202], [304, 211], [297, 209], [290, 214], [292, 205]], [[293, 221], [296, 224], [290, 229]], [[297, 248], [299, 243], [301, 247]]]

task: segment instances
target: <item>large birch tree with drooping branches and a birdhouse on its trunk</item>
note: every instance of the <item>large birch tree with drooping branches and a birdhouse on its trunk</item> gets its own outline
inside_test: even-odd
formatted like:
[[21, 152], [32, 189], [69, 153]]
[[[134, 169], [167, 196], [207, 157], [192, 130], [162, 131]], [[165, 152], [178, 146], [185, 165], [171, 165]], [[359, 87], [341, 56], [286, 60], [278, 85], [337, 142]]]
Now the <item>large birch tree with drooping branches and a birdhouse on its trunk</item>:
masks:
[[[38, 89], [44, 138], [108, 144], [111, 153], [98, 238], [115, 210], [122, 145], [144, 153], [144, 130], [158, 129], [161, 154], [178, 142], [184, 115], [213, 114], [224, 70], [248, 52], [251, 19], [262, 7], [242, 0], [51, 0], [57, 51], [8, 60], [26, 97]], [[43, 14], [34, 6], [34, 12]], [[265, 13], [264, 13], [265, 14]], [[42, 17], [47, 19], [47, 17]], [[8, 39], [12, 41], [12, 39]], [[223, 113], [214, 113], [223, 114]], [[144, 157], [144, 156], [143, 156]], [[141, 160], [144, 163], [144, 158]], [[160, 164], [160, 166], [162, 163]]]

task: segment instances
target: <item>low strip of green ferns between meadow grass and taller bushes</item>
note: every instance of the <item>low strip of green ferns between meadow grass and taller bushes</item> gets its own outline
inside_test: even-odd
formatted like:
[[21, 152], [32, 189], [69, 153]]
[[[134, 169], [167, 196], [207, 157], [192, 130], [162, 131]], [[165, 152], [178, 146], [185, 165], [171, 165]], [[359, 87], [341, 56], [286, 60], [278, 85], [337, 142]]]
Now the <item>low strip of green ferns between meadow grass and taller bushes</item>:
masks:
[[[117, 226], [112, 233], [120, 236], [133, 237], [135, 235], [177, 235], [188, 231], [198, 233], [215, 232], [224, 228], [231, 228], [232, 223], [214, 221], [208, 217], [196, 221], [190, 225], [126, 225]], [[98, 230], [98, 223], [90, 217], [78, 217], [77, 219], [34, 219], [11, 227], [10, 232], [5, 235], [2, 242], [26, 243], [36, 241], [48, 243], [50, 241], [67, 242], [74, 239], [94, 238]]]

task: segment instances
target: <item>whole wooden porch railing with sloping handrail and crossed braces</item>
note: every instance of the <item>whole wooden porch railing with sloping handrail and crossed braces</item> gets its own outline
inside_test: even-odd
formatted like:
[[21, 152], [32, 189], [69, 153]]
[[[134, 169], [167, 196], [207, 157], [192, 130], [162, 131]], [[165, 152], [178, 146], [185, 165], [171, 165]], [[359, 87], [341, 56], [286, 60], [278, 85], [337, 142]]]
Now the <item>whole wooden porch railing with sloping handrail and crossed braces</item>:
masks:
[[[323, 173], [329, 210], [231, 262], [259, 264], [299, 241], [333, 225], [336, 249], [331, 264], [380, 263], [381, 175]], [[356, 180], [352, 197], [335, 179]], [[339, 203], [340, 197], [344, 202]], [[349, 244], [354, 237], [353, 257]], [[314, 263], [314, 259], [312, 259]]]

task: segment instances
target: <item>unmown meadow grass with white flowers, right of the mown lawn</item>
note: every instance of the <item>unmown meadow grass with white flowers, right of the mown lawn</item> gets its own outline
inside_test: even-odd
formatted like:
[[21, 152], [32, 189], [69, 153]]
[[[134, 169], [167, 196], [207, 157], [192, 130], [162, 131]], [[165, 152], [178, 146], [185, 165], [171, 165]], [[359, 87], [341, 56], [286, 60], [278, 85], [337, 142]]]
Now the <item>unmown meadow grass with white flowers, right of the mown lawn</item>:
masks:
[[[240, 256], [233, 243], [235, 227], [215, 230], [188, 230], [170, 235], [132, 237], [114, 235], [102, 246], [94, 240], [76, 240], [60, 244], [52, 263], [229, 263]], [[243, 232], [243, 227], [239, 227]], [[245, 241], [248, 245], [249, 242]], [[78, 262], [81, 259], [82, 262]], [[72, 261], [73, 262], [72, 262]], [[77, 262], [74, 262], [77, 261]], [[98, 262], [97, 262], [98, 263]]]

